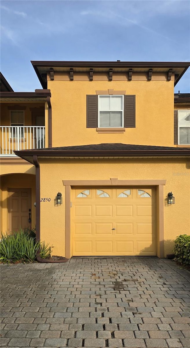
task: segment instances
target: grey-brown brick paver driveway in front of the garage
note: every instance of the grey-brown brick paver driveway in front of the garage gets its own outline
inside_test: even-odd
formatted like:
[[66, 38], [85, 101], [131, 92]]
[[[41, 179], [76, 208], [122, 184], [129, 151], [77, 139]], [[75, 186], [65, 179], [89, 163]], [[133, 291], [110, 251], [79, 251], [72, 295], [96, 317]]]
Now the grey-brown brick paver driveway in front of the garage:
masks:
[[190, 273], [157, 258], [1, 265], [1, 346], [190, 347]]

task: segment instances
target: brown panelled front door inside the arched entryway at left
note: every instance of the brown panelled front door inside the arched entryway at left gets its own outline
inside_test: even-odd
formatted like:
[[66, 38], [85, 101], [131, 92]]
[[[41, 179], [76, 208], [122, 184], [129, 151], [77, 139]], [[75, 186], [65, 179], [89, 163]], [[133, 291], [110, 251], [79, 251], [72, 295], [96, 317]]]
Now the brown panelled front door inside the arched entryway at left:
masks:
[[31, 227], [31, 189], [9, 189], [9, 232]]

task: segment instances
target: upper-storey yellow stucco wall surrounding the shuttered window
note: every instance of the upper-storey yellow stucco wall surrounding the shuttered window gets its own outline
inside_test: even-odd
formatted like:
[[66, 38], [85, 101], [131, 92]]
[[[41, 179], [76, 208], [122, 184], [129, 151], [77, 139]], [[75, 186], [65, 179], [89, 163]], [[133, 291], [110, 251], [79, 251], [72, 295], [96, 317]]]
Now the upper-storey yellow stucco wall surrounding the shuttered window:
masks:
[[[52, 104], [52, 146], [125, 143], [174, 146], [174, 81], [48, 81]], [[136, 127], [123, 134], [86, 128], [86, 95], [96, 90], [136, 95]], [[167, 132], [166, 132], [167, 129]]]

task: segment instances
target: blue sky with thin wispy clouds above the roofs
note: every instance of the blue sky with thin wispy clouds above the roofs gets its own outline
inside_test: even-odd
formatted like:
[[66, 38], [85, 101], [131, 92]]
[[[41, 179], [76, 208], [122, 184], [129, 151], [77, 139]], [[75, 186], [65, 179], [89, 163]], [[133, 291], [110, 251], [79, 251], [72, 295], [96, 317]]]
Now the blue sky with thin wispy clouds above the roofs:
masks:
[[[1, 72], [42, 88], [31, 60], [190, 61], [190, 1], [1, 1]], [[175, 92], [190, 93], [190, 68]]]

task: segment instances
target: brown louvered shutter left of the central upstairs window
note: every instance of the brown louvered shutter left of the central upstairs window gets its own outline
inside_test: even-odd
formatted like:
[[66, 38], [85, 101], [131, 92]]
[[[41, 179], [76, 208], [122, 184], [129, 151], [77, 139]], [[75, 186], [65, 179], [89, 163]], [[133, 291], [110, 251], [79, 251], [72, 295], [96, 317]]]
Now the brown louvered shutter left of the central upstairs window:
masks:
[[86, 127], [98, 127], [98, 95], [86, 96]]

